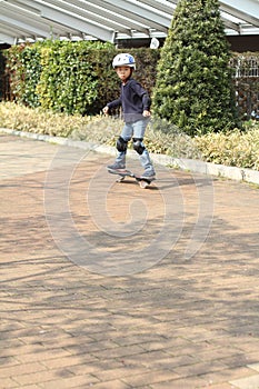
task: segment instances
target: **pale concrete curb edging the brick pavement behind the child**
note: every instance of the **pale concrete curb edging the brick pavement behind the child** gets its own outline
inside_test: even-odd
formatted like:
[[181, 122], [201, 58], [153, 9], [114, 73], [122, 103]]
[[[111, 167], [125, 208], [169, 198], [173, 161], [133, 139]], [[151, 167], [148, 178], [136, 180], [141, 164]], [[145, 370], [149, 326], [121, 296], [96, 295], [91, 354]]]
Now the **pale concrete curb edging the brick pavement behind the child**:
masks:
[[[56, 143], [60, 146], [69, 146], [69, 147], [96, 151], [100, 153], [107, 153], [110, 156], [117, 154], [116, 148], [103, 146], [103, 144], [97, 144], [93, 142], [84, 142], [84, 141], [72, 140], [72, 139], [61, 138], [61, 137], [52, 137], [52, 136], [47, 136], [41, 133], [17, 131], [17, 130], [11, 130], [7, 128], [0, 128], [0, 132], [11, 134], [11, 136], [18, 136], [22, 138], [29, 138], [29, 139], [36, 139], [44, 142]], [[133, 159], [138, 158], [136, 152], [132, 150], [129, 150], [128, 153], [130, 158], [133, 158]], [[151, 153], [150, 156], [156, 163], [160, 163], [162, 166], [170, 166], [176, 169], [188, 170], [191, 172], [198, 172], [207, 176], [217, 176], [217, 177], [227, 178], [230, 180], [245, 181], [245, 182], [259, 184], [259, 171], [257, 170], [227, 167], [223, 164], [203, 162], [200, 160], [179, 159], [179, 158], [173, 158], [165, 154]]]

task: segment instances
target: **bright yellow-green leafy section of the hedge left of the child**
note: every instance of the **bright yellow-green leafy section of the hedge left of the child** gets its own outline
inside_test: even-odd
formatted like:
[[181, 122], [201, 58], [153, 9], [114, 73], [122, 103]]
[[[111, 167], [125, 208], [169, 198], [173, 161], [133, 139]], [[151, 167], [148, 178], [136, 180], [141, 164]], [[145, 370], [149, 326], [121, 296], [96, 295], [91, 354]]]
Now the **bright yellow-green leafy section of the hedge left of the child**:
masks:
[[81, 113], [97, 99], [98, 79], [88, 61], [86, 47], [57, 44], [41, 51], [42, 63], [37, 91], [41, 106], [66, 113]]

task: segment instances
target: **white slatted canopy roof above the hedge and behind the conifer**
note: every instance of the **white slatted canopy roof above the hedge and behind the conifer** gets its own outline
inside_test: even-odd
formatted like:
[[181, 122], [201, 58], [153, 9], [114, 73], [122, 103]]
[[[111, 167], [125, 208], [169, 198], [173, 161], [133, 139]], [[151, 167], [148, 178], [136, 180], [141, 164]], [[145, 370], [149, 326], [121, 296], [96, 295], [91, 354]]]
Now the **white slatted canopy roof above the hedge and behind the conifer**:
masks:
[[[0, 0], [0, 43], [165, 38], [178, 0]], [[259, 34], [259, 0], [223, 0], [227, 34]]]

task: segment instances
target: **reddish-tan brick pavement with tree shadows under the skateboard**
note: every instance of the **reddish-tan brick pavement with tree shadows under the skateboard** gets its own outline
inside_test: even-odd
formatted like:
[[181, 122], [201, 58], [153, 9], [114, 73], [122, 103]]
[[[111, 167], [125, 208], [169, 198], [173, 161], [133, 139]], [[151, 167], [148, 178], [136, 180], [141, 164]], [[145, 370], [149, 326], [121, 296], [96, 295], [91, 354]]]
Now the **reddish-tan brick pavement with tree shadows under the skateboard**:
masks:
[[259, 388], [257, 188], [0, 148], [1, 389]]

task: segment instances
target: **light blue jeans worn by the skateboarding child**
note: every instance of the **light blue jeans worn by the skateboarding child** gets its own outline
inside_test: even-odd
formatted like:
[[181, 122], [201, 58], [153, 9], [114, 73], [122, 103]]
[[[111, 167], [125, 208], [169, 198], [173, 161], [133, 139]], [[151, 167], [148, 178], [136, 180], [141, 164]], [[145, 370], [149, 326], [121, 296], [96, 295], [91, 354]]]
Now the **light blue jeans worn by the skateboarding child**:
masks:
[[[143, 139], [146, 128], [149, 123], [149, 118], [141, 119], [137, 121], [126, 122], [124, 127], [121, 131], [121, 138], [124, 139], [124, 141], [129, 141], [131, 138], [137, 139]], [[141, 142], [141, 146], [145, 148], [143, 142]], [[120, 151], [118, 153], [118, 157], [116, 159], [117, 162], [126, 164], [126, 153], [127, 151]], [[152, 166], [152, 162], [149, 157], [148, 150], [145, 148], [143, 152], [139, 154], [140, 163], [143, 167], [145, 171], [152, 172], [155, 174], [155, 169]]]

